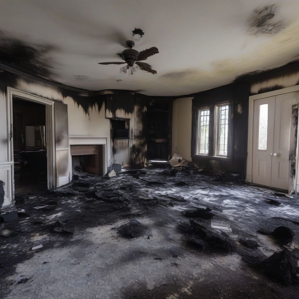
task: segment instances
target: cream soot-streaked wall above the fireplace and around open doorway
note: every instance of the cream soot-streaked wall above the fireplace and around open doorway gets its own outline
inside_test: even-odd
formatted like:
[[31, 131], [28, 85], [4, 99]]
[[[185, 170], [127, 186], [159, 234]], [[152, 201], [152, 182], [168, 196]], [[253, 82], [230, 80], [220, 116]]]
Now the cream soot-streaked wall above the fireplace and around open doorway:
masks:
[[[81, 106], [78, 107], [72, 97], [64, 97], [59, 89], [55, 87], [37, 81], [23, 80], [22, 78], [17, 79], [16, 82], [13, 83], [13, 86], [10, 87], [67, 104], [69, 136], [106, 138], [107, 149], [110, 149], [110, 120], [105, 118], [104, 104], [100, 112], [98, 112], [98, 107], [95, 107], [90, 109], [86, 115], [83, 108]], [[87, 97], [86, 100], [88, 100]], [[93, 138], [88, 140], [92, 144]], [[8, 160], [7, 147], [6, 93], [2, 91], [0, 92], [0, 179], [5, 183], [4, 189], [7, 189], [12, 183], [9, 181], [10, 176], [7, 175], [7, 173], [13, 170], [12, 161]], [[110, 150], [106, 150], [106, 154], [106, 165], [110, 165]], [[8, 165], [11, 167], [10, 170], [7, 168]], [[71, 171], [71, 169], [71, 160], [69, 159], [69, 170]], [[8, 201], [8, 199], [4, 202], [4, 205], [7, 204], [10, 204], [10, 200]]]

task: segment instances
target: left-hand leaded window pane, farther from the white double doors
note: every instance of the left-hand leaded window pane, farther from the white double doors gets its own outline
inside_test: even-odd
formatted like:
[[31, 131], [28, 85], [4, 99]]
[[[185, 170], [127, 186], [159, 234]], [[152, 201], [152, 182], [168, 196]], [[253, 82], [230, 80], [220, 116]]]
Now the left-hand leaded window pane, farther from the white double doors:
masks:
[[209, 121], [210, 121], [210, 110], [209, 109], [199, 110], [197, 154], [208, 155], [209, 153]]

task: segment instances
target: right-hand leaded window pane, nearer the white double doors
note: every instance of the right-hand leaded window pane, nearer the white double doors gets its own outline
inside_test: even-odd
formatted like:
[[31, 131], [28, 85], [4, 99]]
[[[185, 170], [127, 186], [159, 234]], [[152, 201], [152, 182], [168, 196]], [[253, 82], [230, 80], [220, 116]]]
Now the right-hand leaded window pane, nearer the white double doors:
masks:
[[217, 128], [217, 138], [216, 138], [216, 155], [227, 156], [227, 145], [228, 145], [228, 104], [222, 104], [216, 106], [216, 128]]

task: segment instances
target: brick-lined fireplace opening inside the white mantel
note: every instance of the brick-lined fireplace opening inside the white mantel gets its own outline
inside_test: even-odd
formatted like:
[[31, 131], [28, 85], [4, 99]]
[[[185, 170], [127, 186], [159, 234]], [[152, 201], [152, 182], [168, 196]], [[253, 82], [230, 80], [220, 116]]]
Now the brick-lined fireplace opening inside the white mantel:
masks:
[[82, 144], [71, 145], [72, 173], [74, 167], [80, 165], [84, 172], [103, 176], [103, 145]]

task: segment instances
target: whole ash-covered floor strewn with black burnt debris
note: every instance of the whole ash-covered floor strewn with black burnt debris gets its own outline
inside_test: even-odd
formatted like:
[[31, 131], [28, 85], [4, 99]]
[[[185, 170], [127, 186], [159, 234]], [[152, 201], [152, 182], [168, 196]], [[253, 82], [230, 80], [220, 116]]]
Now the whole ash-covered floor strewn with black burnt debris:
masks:
[[298, 298], [298, 196], [147, 167], [80, 174], [16, 210], [3, 299]]

